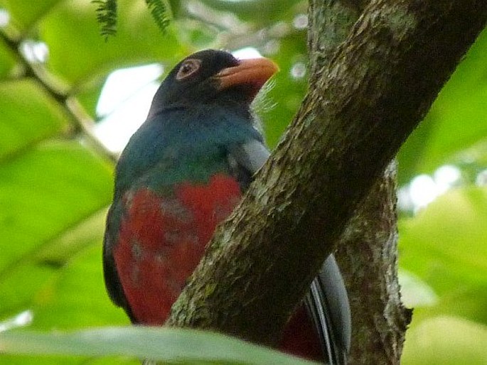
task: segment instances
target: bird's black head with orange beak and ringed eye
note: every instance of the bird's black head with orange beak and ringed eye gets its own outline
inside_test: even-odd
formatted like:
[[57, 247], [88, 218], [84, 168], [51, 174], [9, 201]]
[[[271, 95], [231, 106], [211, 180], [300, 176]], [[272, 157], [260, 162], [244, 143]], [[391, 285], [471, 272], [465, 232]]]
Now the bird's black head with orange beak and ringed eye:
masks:
[[149, 118], [166, 109], [196, 103], [240, 104], [248, 109], [277, 70], [267, 58], [237, 60], [221, 50], [193, 53], [169, 72], [154, 96]]

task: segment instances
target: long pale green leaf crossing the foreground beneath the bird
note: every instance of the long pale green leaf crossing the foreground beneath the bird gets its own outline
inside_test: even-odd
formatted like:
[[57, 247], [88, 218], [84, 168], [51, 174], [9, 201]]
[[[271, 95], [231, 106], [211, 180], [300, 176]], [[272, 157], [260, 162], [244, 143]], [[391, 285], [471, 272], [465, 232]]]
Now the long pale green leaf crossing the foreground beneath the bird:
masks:
[[0, 333], [0, 352], [76, 356], [137, 356], [165, 364], [293, 364], [311, 361], [194, 329], [112, 327], [67, 333]]

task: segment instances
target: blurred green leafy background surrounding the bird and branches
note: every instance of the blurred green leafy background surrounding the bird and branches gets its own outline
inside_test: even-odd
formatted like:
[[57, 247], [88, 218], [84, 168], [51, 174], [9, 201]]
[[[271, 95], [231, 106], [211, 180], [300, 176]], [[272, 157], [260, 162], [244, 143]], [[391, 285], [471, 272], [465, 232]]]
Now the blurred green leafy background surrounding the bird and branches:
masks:
[[[153, 62], [168, 70], [195, 50], [252, 46], [281, 68], [257, 105], [270, 146], [299, 107], [306, 92], [306, 1], [167, 4], [172, 20], [161, 33], [144, 1], [119, 0], [117, 35], [105, 42], [90, 1], [0, 0], [0, 332], [19, 325], [14, 319], [22, 312], [32, 316], [28, 329], [46, 335], [129, 323], [109, 302], [101, 270], [114, 158], [92, 128], [110, 72]], [[406, 365], [487, 364], [486, 101], [483, 32], [398, 156], [402, 186], [445, 164], [461, 173], [453, 190], [417, 214], [401, 215], [405, 300], [416, 306]], [[7, 341], [1, 336], [17, 331], [0, 334], [0, 352]], [[42, 352], [43, 345], [31, 345]], [[113, 363], [80, 351], [70, 353], [87, 357], [0, 355], [0, 362]], [[252, 351], [243, 350], [242, 359]]]

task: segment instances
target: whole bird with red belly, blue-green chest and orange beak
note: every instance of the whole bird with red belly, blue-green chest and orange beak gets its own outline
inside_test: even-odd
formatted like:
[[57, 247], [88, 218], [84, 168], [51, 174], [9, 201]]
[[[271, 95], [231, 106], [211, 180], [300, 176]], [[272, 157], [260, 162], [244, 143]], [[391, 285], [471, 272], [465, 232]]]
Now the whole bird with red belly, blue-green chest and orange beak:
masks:
[[[115, 168], [103, 271], [109, 298], [136, 325], [164, 325], [171, 305], [269, 158], [252, 101], [278, 71], [267, 58], [201, 50], [181, 60]], [[346, 364], [350, 306], [333, 254], [311, 283], [278, 349]]]

